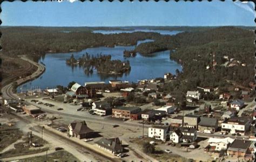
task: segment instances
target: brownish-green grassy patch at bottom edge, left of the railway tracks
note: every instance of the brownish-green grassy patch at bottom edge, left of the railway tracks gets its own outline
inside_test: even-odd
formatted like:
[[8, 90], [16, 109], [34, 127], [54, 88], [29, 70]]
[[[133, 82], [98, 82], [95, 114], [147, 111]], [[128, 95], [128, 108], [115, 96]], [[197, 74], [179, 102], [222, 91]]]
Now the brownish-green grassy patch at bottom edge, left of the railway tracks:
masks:
[[[79, 161], [76, 157], [74, 157], [71, 153], [67, 151], [57, 151], [55, 153], [48, 154], [47, 156], [47, 161], [67, 161], [67, 162], [74, 162], [74, 161]], [[32, 158], [26, 158], [19, 160], [22, 162], [32, 162], [32, 161], [46, 161], [46, 154], [45, 156], [37, 156], [37, 157], [32, 157]]]

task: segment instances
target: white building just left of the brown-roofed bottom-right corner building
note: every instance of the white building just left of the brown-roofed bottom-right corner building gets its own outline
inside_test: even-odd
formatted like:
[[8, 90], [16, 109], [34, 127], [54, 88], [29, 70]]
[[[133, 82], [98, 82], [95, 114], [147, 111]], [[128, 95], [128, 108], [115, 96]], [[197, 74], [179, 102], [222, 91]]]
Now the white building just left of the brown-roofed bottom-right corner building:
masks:
[[208, 143], [214, 151], [227, 150], [228, 146], [233, 143], [234, 139], [230, 137], [226, 138], [209, 138]]

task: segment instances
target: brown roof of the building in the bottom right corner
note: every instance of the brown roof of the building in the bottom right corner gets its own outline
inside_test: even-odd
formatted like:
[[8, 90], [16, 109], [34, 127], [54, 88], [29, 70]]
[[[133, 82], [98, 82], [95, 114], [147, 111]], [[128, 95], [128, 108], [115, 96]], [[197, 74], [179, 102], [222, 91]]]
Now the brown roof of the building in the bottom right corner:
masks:
[[228, 147], [228, 150], [231, 151], [243, 151], [245, 152], [248, 147], [250, 147], [252, 141], [251, 140], [241, 140], [241, 139], [235, 139], [233, 143]]

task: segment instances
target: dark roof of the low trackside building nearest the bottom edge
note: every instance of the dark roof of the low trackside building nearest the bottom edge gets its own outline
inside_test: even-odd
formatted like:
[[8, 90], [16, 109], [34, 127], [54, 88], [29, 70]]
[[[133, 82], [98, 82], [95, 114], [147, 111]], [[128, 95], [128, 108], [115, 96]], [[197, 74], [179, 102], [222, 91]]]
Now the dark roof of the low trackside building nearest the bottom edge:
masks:
[[110, 139], [102, 138], [98, 140], [96, 144], [114, 152], [118, 150], [123, 150], [123, 146], [119, 138], [110, 138]]

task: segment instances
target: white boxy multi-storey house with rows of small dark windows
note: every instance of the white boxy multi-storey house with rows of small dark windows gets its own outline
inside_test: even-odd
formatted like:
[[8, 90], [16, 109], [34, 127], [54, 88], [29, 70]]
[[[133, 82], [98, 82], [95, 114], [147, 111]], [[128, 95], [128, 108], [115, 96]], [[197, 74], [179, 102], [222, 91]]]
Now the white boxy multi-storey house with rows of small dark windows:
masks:
[[169, 126], [152, 125], [149, 127], [149, 137], [166, 141], [169, 136]]

